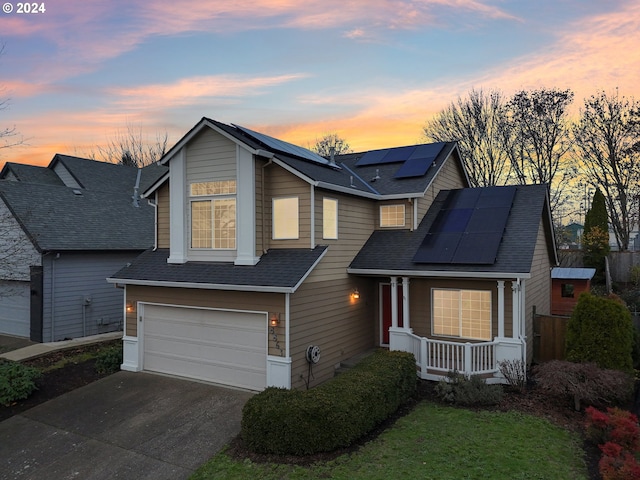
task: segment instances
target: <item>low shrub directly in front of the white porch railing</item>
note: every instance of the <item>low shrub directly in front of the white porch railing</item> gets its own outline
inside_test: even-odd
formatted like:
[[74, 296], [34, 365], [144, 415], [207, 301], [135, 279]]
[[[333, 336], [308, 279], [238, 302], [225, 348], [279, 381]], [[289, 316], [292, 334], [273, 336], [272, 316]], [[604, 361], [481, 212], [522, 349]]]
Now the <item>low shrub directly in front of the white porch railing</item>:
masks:
[[448, 372], [435, 392], [440, 399], [456, 405], [497, 405], [502, 400], [500, 385], [489, 385], [478, 375], [467, 378], [458, 372]]

